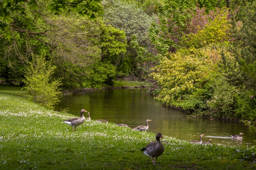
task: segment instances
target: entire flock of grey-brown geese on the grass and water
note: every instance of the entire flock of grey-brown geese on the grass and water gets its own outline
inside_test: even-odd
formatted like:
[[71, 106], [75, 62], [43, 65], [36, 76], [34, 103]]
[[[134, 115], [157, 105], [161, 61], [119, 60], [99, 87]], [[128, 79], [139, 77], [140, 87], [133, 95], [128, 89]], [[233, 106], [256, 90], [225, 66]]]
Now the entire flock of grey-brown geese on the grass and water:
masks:
[[[87, 120], [91, 120], [90, 118], [90, 113], [87, 112], [88, 117], [84, 117], [83, 113], [87, 112], [86, 110], [82, 109], [80, 112], [80, 117], [74, 117], [72, 119], [67, 119], [65, 121], [63, 121], [62, 123], [65, 123], [71, 127], [73, 127], [72, 131], [74, 131], [74, 128], [76, 130], [76, 126], [80, 126], [81, 124], [83, 124], [83, 122], [87, 119]], [[105, 119], [100, 119], [100, 120], [96, 120], [97, 122], [106, 122], [108, 123], [108, 120]], [[137, 131], [143, 131], [143, 130], [148, 130], [148, 122], [151, 121], [149, 119], [147, 119], [146, 121], [146, 126], [137, 126], [136, 128], [133, 128], [133, 130], [137, 130]], [[131, 128], [131, 126], [128, 126], [127, 124], [116, 124], [117, 126], [124, 126], [127, 128]], [[239, 135], [231, 135], [231, 137], [233, 139], [242, 139], [243, 137], [241, 136], [243, 135], [243, 133], [239, 133]], [[189, 141], [191, 143], [198, 143], [198, 144], [211, 144], [212, 139], [209, 139], [208, 142], [202, 141], [202, 137], [204, 136], [204, 134], [200, 135], [199, 141], [193, 140], [193, 141]], [[156, 134], [156, 141], [149, 143], [147, 146], [145, 146], [145, 148], [141, 149], [141, 151], [144, 151], [143, 154], [151, 157], [151, 160], [153, 162], [153, 164], [156, 163], [156, 160], [153, 160], [153, 157], [159, 157], [161, 154], [163, 154], [163, 151], [165, 149], [165, 147], [163, 146], [163, 143], [161, 143], [160, 138], [163, 139], [163, 136], [161, 133], [157, 133]]]

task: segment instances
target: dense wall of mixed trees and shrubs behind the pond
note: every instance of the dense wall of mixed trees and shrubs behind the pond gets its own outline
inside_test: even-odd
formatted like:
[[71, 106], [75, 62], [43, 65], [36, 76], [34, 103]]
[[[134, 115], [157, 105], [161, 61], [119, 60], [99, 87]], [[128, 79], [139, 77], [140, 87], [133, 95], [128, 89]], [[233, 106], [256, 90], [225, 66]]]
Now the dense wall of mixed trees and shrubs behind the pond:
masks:
[[2, 83], [28, 87], [35, 55], [56, 68], [63, 90], [148, 80], [156, 99], [191, 116], [256, 121], [254, 0], [0, 0], [0, 8]]

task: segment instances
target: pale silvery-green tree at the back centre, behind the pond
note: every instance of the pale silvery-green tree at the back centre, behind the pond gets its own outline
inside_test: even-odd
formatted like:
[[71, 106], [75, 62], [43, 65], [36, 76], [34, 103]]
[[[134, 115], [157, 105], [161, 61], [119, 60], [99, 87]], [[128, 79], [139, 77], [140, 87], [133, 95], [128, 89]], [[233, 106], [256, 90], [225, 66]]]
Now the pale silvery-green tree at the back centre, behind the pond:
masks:
[[[128, 74], [135, 75], [137, 62], [142, 62], [152, 51], [152, 45], [147, 37], [148, 28], [154, 22], [155, 17], [149, 16], [135, 2], [123, 2], [119, 0], [102, 1], [104, 9], [104, 20], [107, 24], [123, 30], [127, 38], [127, 52], [120, 56], [117, 71], [119, 76]], [[135, 39], [133, 37], [136, 37]], [[133, 41], [133, 42], [132, 42]], [[139, 48], [144, 48], [143, 57], [134, 49], [136, 41]], [[152, 55], [152, 54], [151, 54]], [[142, 59], [143, 58], [143, 59]]]

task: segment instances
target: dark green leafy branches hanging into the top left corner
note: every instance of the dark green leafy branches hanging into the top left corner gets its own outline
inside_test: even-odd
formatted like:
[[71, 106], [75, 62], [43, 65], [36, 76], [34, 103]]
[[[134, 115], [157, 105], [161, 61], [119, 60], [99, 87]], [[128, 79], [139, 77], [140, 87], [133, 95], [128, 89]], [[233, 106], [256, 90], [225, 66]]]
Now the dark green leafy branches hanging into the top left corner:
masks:
[[[37, 10], [39, 5], [44, 2], [37, 0], [0, 0], [0, 32], [6, 37], [11, 38], [10, 27], [18, 27], [11, 24], [15, 15], [26, 15], [30, 11]], [[61, 14], [68, 9], [72, 9], [81, 15], [96, 18], [97, 14], [102, 14], [100, 0], [52, 0], [47, 9], [55, 14]], [[32, 34], [30, 34], [32, 35]]]

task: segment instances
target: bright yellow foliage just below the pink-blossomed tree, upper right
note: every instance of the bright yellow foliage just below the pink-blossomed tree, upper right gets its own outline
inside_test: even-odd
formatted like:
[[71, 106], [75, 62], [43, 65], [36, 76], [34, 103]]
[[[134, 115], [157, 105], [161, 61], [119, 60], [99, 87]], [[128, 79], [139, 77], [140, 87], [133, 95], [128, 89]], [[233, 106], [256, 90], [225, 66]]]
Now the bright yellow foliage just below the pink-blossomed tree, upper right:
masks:
[[228, 13], [221, 10], [214, 20], [206, 24], [206, 26], [197, 31], [196, 34], [189, 34], [183, 38], [185, 46], [194, 46], [195, 48], [201, 48], [211, 43], [218, 43], [227, 41], [228, 36]]

